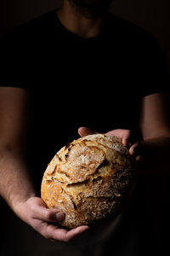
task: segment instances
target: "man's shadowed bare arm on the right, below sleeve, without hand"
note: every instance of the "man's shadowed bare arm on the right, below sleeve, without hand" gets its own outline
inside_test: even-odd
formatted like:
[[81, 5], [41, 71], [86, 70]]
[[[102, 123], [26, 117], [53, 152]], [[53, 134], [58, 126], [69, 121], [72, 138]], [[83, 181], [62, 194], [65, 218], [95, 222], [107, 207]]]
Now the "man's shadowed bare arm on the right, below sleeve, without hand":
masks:
[[139, 174], [144, 176], [169, 173], [170, 155], [170, 95], [156, 93], [142, 100], [139, 120], [143, 135], [141, 142], [142, 161]]

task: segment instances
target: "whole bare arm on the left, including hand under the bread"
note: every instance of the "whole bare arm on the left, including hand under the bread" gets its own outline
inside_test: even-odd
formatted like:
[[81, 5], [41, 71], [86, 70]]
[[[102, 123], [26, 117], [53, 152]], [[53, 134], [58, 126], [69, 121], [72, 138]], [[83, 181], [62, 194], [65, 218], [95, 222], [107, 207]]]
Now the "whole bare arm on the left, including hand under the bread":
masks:
[[65, 218], [48, 209], [36, 196], [26, 157], [26, 132], [30, 96], [27, 90], [0, 87], [0, 195], [8, 206], [34, 230], [52, 241], [70, 241], [88, 226], [66, 230], [57, 224]]

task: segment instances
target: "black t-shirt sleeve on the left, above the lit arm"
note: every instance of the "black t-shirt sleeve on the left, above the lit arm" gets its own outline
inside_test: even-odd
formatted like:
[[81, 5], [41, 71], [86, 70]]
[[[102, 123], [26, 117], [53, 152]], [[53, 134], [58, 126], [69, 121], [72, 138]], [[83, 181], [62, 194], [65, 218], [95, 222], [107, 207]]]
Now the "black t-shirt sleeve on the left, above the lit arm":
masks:
[[12, 29], [0, 38], [0, 86], [27, 89], [26, 49], [22, 32]]

